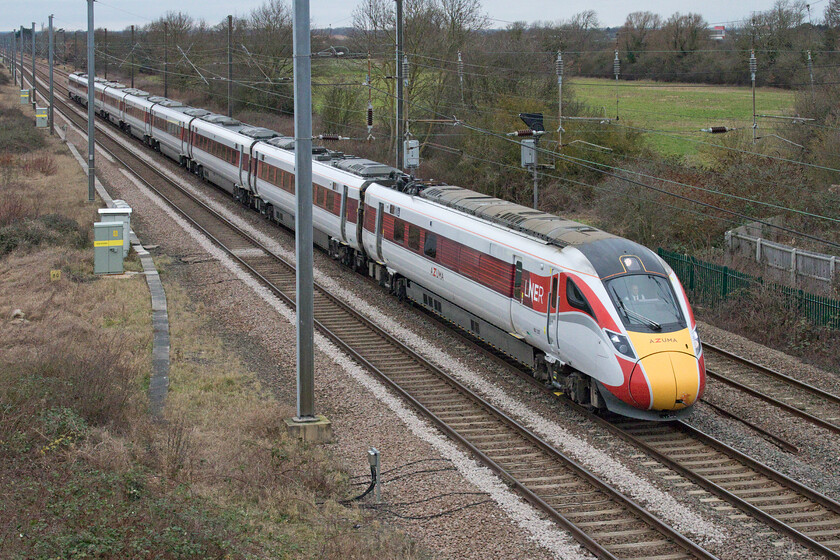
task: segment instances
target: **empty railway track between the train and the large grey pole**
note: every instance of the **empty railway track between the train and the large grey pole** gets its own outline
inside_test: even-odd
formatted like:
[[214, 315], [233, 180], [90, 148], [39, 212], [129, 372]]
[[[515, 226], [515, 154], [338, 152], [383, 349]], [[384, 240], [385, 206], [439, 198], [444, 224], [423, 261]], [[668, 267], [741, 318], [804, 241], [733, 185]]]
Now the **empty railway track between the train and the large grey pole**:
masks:
[[[55, 99], [57, 110], [84, 130], [86, 119], [64, 101], [66, 89]], [[101, 122], [97, 128], [101, 131], [97, 141], [102, 149], [140, 177], [278, 297], [294, 306], [292, 265], [111, 137], [122, 133]], [[714, 558], [318, 285], [315, 286], [315, 321], [321, 333], [469, 449], [595, 556], [662, 560]]]

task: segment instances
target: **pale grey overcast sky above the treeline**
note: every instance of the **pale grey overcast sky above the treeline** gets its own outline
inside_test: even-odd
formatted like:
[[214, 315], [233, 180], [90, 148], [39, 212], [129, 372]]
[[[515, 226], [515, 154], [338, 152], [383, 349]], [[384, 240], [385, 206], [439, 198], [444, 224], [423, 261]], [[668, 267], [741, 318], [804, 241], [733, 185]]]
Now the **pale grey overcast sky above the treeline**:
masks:
[[[363, 1], [363, 0], [362, 0]], [[811, 2], [813, 15], [819, 19], [825, 9], [826, 0]], [[289, 0], [291, 3], [291, 0]], [[195, 19], [204, 19], [210, 24], [222, 21], [227, 14], [246, 15], [259, 6], [262, 0], [107, 0], [97, 1], [96, 27], [120, 30], [134, 24], [142, 26], [157, 19], [168, 10], [189, 13]], [[752, 11], [766, 10], [772, 0], [636, 0], [632, 4], [619, 0], [483, 0], [485, 13], [492, 18], [493, 27], [504, 27], [512, 21], [557, 21], [573, 14], [594, 9], [602, 25], [618, 26], [630, 11], [649, 10], [668, 16], [674, 12], [699, 12], [706, 21], [713, 24], [740, 21]], [[0, 30], [11, 30], [20, 25], [30, 26], [36, 22], [40, 28], [46, 25], [49, 14], [55, 15], [55, 26], [66, 29], [87, 27], [87, 2], [85, 0], [3, 0], [0, 12]], [[352, 13], [358, 2], [354, 0], [312, 0], [310, 14], [315, 27], [345, 27], [352, 23]]]

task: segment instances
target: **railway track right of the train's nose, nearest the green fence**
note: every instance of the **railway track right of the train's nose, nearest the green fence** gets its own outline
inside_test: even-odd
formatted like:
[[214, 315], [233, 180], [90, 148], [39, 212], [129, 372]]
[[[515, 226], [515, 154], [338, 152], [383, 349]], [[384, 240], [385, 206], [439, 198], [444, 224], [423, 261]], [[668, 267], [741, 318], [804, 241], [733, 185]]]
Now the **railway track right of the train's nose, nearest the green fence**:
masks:
[[716, 381], [735, 387], [790, 414], [840, 434], [840, 397], [803, 383], [781, 372], [757, 364], [723, 348], [703, 343], [725, 362], [706, 374]]

